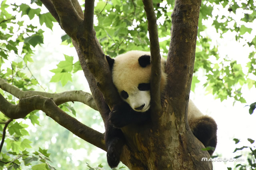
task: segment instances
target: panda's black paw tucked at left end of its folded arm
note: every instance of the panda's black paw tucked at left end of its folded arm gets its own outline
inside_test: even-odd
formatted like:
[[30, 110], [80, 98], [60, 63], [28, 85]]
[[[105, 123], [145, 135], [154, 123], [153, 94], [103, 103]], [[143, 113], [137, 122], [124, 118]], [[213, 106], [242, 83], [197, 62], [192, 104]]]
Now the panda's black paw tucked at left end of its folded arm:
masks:
[[122, 128], [126, 125], [128, 125], [124, 121], [124, 116], [121, 113], [118, 113], [116, 110], [113, 110], [109, 113], [109, 122], [116, 128]]

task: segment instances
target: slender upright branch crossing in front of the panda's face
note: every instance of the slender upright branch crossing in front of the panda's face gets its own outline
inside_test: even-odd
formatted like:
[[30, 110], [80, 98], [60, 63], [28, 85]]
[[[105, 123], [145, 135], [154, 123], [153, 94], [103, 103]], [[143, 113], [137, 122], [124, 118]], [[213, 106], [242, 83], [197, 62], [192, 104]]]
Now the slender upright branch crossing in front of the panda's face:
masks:
[[151, 62], [151, 81], [150, 96], [152, 113], [157, 113], [161, 109], [160, 100], [160, 81], [161, 81], [161, 55], [158, 42], [158, 29], [156, 24], [156, 14], [152, 0], [142, 0], [144, 10], [148, 20], [148, 32], [150, 40], [150, 62]]

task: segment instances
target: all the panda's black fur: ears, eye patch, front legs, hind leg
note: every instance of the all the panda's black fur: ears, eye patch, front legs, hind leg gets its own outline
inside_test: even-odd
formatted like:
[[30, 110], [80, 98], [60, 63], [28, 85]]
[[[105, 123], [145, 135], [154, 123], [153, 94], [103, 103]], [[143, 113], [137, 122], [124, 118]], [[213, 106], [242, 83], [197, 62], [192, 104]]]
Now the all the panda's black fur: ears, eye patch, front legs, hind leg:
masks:
[[[112, 70], [114, 65], [114, 59], [106, 55], [106, 59]], [[138, 62], [141, 67], [150, 65], [150, 55], [142, 55]], [[150, 90], [150, 84], [140, 84], [139, 89]], [[150, 109], [144, 113], [134, 111], [128, 103], [120, 101], [112, 108], [112, 111], [108, 114], [108, 121], [105, 124], [105, 142], [107, 148], [107, 160], [108, 165], [111, 168], [118, 166], [120, 162], [120, 155], [122, 153], [123, 146], [125, 144], [125, 137], [120, 128], [138, 124], [141, 125], [150, 121]], [[210, 117], [201, 117], [198, 121], [194, 121], [190, 125], [193, 134], [198, 138], [205, 147], [216, 147], [217, 144], [217, 125], [215, 121]], [[212, 155], [214, 150], [208, 150]]]

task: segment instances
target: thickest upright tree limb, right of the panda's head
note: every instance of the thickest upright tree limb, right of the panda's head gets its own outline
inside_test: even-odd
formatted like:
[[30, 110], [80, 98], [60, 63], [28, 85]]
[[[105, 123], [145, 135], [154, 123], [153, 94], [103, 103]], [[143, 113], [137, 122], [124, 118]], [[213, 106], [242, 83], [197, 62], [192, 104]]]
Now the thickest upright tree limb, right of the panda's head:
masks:
[[[176, 0], [172, 12], [171, 42], [166, 63], [168, 98], [178, 121], [184, 121], [194, 69], [201, 0]], [[180, 109], [184, 108], [184, 110]]]

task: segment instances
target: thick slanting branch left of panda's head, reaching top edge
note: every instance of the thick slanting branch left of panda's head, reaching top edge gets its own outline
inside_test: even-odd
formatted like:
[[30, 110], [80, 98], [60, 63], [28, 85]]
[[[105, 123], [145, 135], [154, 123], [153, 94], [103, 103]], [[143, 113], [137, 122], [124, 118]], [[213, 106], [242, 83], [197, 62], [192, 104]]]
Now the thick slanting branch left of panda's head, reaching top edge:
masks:
[[[79, 45], [79, 51], [82, 52], [85, 59], [85, 69], [90, 70], [95, 78], [98, 89], [100, 89], [104, 98], [107, 99], [106, 102], [108, 106], [112, 107], [114, 104], [118, 103], [119, 95], [112, 82], [112, 75], [106, 61], [105, 54], [96, 38], [96, 32], [93, 28], [93, 9], [94, 0], [86, 0], [84, 14], [85, 19], [77, 33], [77, 42]], [[76, 50], [78, 51], [77, 47]]]

